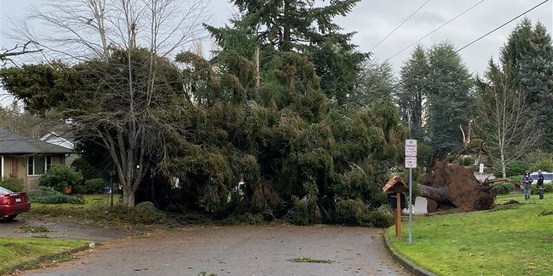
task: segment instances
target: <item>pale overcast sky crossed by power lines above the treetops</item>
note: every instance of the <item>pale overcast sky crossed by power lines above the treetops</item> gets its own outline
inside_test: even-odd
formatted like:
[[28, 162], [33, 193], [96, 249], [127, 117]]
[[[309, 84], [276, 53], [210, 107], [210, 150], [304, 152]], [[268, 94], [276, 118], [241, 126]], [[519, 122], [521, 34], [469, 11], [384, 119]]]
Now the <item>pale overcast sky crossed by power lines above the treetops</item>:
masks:
[[[353, 12], [350, 12], [347, 17], [337, 18], [336, 22], [344, 28], [344, 32], [357, 32], [353, 42], [359, 46], [359, 50], [368, 52], [426, 1], [362, 0]], [[402, 27], [375, 48], [374, 58], [379, 61], [388, 59], [480, 1], [482, 0], [430, 0], [409, 21], [406, 21]], [[542, 1], [484, 0], [462, 17], [434, 32], [420, 43], [429, 47], [433, 43], [448, 40], [460, 48]], [[38, 3], [41, 3], [41, 0], [0, 0], [0, 48], [8, 48], [15, 43], [10, 41], [6, 35], [10, 28], [8, 18], [24, 17], [28, 7]], [[328, 3], [328, 1], [324, 3]], [[528, 12], [526, 17], [534, 23], [541, 21], [551, 32], [553, 30], [552, 3], [553, 0], [548, 1], [536, 10]], [[236, 10], [226, 0], [211, 0], [209, 12], [212, 14], [210, 23], [214, 26], [222, 26]], [[509, 23], [461, 52], [470, 72], [476, 73], [485, 70], [487, 59], [497, 57], [500, 46], [505, 43], [509, 32], [518, 21], [520, 19]], [[209, 41], [205, 41], [205, 45], [209, 44]], [[389, 62], [395, 70], [398, 70], [404, 60], [409, 58], [410, 53], [411, 48]]]

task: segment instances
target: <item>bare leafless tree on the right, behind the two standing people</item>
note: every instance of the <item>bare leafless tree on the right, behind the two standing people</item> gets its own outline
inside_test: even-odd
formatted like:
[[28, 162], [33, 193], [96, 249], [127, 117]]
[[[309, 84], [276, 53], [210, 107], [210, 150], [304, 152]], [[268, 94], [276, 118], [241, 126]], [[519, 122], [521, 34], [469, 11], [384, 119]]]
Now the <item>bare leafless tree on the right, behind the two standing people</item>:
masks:
[[522, 90], [517, 90], [514, 83], [501, 73], [495, 74], [490, 81], [491, 84], [482, 89], [476, 104], [476, 128], [487, 141], [505, 178], [505, 166], [531, 149], [541, 130]]

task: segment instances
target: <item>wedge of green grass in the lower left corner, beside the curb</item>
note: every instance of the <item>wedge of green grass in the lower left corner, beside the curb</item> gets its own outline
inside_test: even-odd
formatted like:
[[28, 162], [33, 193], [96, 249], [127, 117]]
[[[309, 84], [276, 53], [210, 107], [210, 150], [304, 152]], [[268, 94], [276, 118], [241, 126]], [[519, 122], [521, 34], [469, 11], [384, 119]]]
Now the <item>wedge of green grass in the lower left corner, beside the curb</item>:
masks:
[[14, 266], [28, 264], [39, 257], [63, 255], [86, 244], [88, 242], [64, 239], [0, 237], [0, 275], [10, 272]]

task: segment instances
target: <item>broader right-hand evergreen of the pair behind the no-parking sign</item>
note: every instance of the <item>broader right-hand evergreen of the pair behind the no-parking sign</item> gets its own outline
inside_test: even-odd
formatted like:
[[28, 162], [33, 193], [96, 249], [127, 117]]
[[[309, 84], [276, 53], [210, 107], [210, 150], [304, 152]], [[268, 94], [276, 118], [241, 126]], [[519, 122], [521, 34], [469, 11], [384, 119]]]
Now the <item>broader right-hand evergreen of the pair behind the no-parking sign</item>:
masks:
[[429, 138], [435, 157], [462, 146], [460, 127], [467, 126], [472, 112], [474, 81], [460, 55], [449, 42], [439, 43], [428, 52], [431, 69], [427, 75]]

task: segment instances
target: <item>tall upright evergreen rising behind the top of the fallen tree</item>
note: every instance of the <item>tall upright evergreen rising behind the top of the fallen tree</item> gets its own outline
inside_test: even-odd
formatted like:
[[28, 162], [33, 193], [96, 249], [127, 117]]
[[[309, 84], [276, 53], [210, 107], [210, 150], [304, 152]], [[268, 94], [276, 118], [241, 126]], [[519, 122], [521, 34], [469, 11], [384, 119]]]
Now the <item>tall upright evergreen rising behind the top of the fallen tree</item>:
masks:
[[308, 57], [315, 63], [322, 90], [342, 104], [353, 92], [357, 73], [368, 54], [357, 52], [357, 46], [350, 43], [355, 33], [340, 33], [341, 28], [332, 19], [345, 16], [359, 1], [330, 1], [328, 6], [316, 6], [314, 0], [233, 2], [243, 13], [241, 24], [257, 37], [264, 55], [272, 51], [263, 46], [271, 46]]

